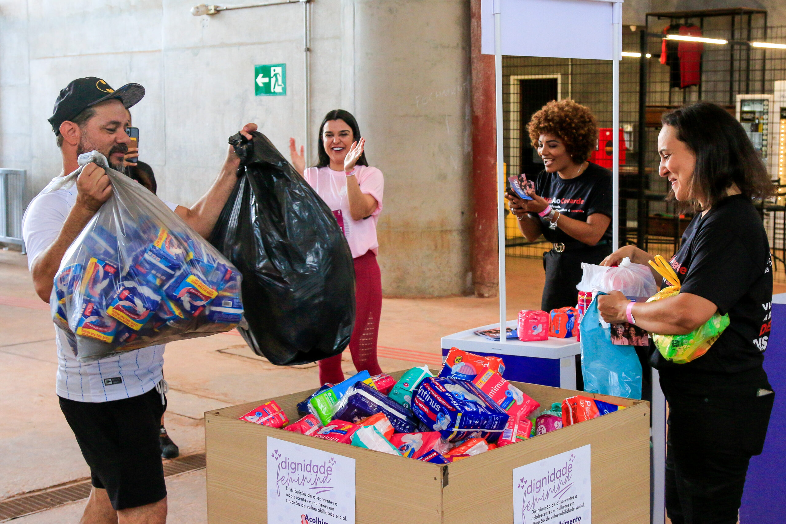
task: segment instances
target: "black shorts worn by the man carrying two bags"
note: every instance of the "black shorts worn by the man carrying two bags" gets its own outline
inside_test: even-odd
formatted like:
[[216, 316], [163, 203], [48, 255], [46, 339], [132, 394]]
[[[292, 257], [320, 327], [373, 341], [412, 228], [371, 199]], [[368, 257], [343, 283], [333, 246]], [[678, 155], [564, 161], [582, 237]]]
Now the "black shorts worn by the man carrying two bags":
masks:
[[93, 486], [106, 489], [112, 508], [137, 508], [167, 496], [158, 440], [166, 407], [155, 388], [108, 402], [60, 398]]

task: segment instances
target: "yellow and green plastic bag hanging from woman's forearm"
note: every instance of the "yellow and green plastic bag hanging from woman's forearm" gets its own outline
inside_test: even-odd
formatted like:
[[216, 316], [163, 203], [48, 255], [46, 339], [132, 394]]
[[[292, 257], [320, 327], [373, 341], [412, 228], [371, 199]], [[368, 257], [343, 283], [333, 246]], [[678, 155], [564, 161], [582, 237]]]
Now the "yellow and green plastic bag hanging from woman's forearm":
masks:
[[[670, 296], [678, 295], [681, 284], [677, 273], [671, 268], [669, 262], [660, 255], [655, 255], [655, 262], [650, 261], [649, 265], [655, 268], [660, 275], [671, 285], [663, 288], [655, 295], [652, 295], [647, 302], [665, 299]], [[652, 333], [652, 340], [655, 346], [668, 361], [674, 364], [687, 364], [695, 361], [707, 353], [710, 346], [714, 344], [723, 330], [729, 326], [729, 314], [721, 315], [717, 311], [710, 317], [710, 320], [694, 329], [687, 335], [658, 335]]]

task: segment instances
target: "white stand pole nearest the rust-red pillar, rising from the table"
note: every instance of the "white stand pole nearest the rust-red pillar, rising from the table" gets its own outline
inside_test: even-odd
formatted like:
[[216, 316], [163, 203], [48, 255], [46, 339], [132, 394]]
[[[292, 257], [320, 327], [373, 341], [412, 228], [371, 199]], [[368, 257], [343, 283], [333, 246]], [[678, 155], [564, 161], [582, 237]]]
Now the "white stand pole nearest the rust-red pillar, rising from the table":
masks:
[[499, 341], [508, 341], [507, 312], [505, 304], [505, 157], [503, 155], [502, 134], [502, 0], [494, 0], [494, 76], [496, 90], [494, 101], [497, 104], [497, 207], [498, 207], [498, 247], [499, 247]]

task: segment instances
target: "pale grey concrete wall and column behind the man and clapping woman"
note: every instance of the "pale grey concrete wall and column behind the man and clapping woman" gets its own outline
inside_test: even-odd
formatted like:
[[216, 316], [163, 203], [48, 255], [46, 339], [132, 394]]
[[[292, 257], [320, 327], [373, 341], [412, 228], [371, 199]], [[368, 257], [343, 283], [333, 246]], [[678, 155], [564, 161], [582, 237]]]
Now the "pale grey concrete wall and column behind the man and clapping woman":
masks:
[[[83, 76], [145, 86], [131, 113], [167, 200], [208, 189], [243, 123], [282, 152], [303, 144], [303, 4], [193, 16], [196, 3], [0, 0], [0, 167], [28, 170], [27, 200], [61, 170], [46, 118]], [[310, 159], [325, 112], [354, 112], [386, 177], [387, 295], [467, 290], [468, 18], [465, 0], [311, 2]], [[281, 62], [287, 95], [255, 97], [254, 64]]]

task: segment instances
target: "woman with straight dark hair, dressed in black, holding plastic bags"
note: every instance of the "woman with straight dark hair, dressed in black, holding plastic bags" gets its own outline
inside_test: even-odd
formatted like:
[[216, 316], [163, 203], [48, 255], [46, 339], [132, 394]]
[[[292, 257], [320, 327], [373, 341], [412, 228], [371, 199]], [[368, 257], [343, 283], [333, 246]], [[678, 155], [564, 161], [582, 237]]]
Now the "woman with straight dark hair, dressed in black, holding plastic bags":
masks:
[[[652, 350], [669, 402], [666, 506], [673, 524], [735, 524], [751, 456], [762, 453], [775, 394], [762, 368], [773, 296], [769, 242], [752, 200], [773, 193], [762, 159], [725, 109], [699, 102], [666, 113], [658, 137], [659, 175], [680, 203], [696, 207], [670, 264], [678, 295], [629, 302], [598, 299], [604, 321], [685, 335], [714, 313], [729, 327], [706, 354], [675, 364]], [[647, 264], [634, 246], [609, 255]]]

